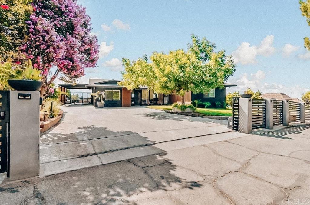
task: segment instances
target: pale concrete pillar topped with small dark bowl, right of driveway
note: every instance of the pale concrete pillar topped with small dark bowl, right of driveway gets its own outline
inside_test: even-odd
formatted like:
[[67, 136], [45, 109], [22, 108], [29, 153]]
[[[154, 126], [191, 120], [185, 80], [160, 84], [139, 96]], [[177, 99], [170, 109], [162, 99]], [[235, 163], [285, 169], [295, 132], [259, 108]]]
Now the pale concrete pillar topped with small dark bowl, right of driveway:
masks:
[[252, 132], [252, 99], [239, 98], [238, 131], [242, 133]]

